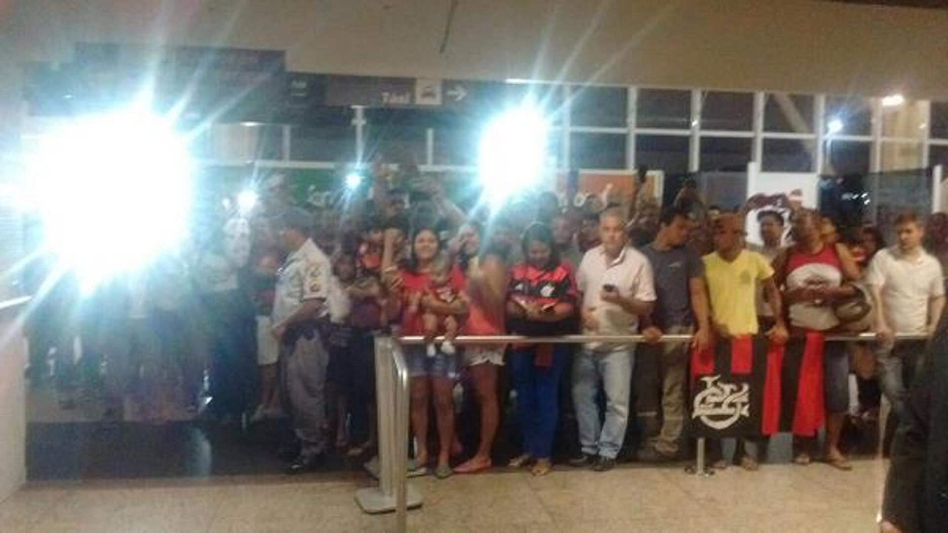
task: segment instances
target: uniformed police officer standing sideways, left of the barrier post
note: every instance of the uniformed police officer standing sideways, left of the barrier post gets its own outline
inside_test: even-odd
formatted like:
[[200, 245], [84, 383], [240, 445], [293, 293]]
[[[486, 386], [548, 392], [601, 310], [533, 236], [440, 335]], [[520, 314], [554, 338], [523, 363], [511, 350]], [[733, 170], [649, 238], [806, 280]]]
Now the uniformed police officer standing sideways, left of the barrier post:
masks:
[[273, 336], [280, 343], [283, 396], [301, 443], [289, 473], [319, 466], [325, 452], [322, 425], [329, 355], [317, 325], [328, 311], [325, 300], [331, 266], [309, 238], [312, 225], [313, 216], [299, 207], [283, 214], [280, 240], [287, 258], [280, 269], [271, 317]]

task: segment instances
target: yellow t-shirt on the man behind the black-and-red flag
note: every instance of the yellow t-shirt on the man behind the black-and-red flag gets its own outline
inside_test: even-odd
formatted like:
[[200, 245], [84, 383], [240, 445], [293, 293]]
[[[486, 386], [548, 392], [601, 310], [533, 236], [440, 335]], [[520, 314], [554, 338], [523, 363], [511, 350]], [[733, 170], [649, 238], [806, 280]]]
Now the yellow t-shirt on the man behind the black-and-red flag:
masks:
[[711, 297], [711, 322], [730, 335], [757, 333], [757, 282], [773, 277], [767, 258], [742, 250], [732, 262], [717, 252], [704, 256], [704, 277]]

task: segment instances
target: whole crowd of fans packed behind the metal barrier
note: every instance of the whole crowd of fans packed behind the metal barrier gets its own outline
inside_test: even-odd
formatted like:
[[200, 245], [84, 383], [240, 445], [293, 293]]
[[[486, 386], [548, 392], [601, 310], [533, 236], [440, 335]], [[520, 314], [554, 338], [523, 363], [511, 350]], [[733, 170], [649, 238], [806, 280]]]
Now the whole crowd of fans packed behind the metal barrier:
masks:
[[[902, 214], [886, 247], [879, 228], [837, 228], [793, 196], [720, 208], [685, 182], [660, 208], [635, 178], [624, 194], [571, 190], [564, 202], [540, 192], [497, 212], [465, 211], [412, 166], [376, 164], [371, 174], [319, 209], [293, 204], [286, 179], [270, 175], [252, 209], [211, 209], [180, 250], [91, 294], [37, 259], [26, 280], [37, 296], [29, 379], [51, 375], [65, 409], [98, 395], [117, 421], [162, 422], [177, 403], [224, 424], [288, 419], [289, 471], [299, 472], [334, 449], [372, 453], [374, 335], [417, 335], [424, 344], [405, 346], [411, 468], [439, 478], [490, 469], [514, 404], [519, 453], [509, 466], [544, 475], [564, 418], [574, 418], [574, 467], [611, 470], [631, 434], [639, 460], [686, 457], [692, 354], [757, 338], [801, 346], [790, 370], [801, 383], [787, 424], [794, 463], [819, 458], [845, 471], [847, 418], [877, 421], [883, 396], [895, 417], [904, 411], [924, 341], [895, 334], [931, 333], [944, 305], [942, 214]], [[760, 244], [748, 242], [748, 217]], [[836, 331], [877, 340], [827, 342], [814, 356], [811, 333]], [[646, 342], [457, 342], [507, 333]], [[661, 342], [669, 334], [692, 340]], [[469, 450], [455, 423], [459, 381], [479, 423]], [[720, 442], [709, 444], [713, 466], [726, 468]], [[766, 449], [764, 435], [742, 438], [733, 461], [755, 471]]]

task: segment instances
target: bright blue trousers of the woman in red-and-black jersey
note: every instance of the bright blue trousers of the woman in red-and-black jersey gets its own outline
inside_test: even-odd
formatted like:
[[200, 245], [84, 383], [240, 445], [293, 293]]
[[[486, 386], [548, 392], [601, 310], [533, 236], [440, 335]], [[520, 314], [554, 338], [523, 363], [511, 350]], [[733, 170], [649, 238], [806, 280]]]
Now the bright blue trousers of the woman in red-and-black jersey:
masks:
[[548, 459], [553, 452], [559, 418], [559, 378], [569, 361], [569, 345], [553, 347], [553, 364], [537, 366], [537, 346], [522, 347], [510, 354], [510, 377], [517, 391], [522, 453]]

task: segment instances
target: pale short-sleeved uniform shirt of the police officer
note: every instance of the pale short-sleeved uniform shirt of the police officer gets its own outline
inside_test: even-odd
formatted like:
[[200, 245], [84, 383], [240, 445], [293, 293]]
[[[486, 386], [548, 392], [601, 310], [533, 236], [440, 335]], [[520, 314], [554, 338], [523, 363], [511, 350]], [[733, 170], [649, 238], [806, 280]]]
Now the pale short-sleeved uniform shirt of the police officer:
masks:
[[[271, 315], [273, 323], [278, 324], [292, 316], [307, 300], [325, 300], [329, 296], [331, 270], [329, 258], [311, 239], [290, 254], [277, 279]], [[318, 316], [325, 316], [327, 312], [323, 306]]]

